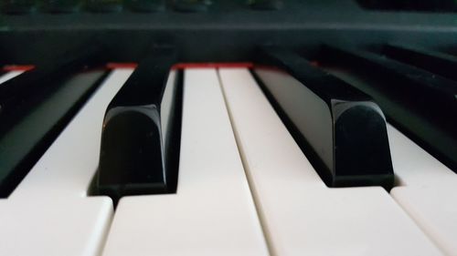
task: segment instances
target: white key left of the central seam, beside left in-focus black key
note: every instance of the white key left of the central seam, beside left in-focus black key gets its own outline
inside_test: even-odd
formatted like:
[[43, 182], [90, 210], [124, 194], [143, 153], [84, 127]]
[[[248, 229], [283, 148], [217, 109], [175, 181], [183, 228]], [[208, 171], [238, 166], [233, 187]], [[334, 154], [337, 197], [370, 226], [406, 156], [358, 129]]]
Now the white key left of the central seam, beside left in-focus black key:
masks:
[[102, 255], [269, 255], [217, 72], [184, 79], [176, 193], [123, 197]]

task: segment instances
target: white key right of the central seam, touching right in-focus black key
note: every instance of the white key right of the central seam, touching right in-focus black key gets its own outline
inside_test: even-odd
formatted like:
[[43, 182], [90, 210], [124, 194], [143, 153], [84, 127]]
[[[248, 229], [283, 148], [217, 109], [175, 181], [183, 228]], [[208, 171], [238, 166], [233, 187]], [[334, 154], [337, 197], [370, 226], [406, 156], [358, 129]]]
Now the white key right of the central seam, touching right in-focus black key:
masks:
[[385, 189], [325, 187], [247, 69], [219, 76], [272, 255], [441, 255]]

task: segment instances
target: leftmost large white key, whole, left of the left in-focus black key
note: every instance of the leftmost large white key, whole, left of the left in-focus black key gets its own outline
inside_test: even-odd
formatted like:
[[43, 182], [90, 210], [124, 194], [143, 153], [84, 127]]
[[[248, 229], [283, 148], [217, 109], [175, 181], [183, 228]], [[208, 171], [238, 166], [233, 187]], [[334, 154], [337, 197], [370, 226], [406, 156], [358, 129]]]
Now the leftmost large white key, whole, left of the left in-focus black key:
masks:
[[100, 255], [112, 200], [88, 198], [87, 189], [105, 108], [132, 72], [113, 71], [13, 194], [0, 200], [0, 255]]

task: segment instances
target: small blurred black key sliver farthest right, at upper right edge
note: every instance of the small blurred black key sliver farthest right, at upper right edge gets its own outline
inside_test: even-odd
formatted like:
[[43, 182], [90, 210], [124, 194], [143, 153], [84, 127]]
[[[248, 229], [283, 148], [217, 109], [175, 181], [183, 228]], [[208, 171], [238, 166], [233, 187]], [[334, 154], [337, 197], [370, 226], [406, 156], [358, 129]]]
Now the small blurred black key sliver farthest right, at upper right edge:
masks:
[[457, 57], [417, 46], [386, 45], [383, 53], [403, 63], [457, 80]]

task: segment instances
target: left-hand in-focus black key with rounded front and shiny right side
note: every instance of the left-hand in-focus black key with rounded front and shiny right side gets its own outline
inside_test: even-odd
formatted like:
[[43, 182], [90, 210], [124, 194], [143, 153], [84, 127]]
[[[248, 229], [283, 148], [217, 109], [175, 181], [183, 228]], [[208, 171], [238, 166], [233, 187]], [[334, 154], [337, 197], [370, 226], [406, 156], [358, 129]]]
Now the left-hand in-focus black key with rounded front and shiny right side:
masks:
[[101, 135], [95, 194], [116, 203], [124, 195], [173, 193], [181, 128], [180, 73], [175, 53], [145, 59], [112, 99]]

